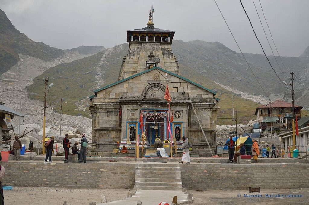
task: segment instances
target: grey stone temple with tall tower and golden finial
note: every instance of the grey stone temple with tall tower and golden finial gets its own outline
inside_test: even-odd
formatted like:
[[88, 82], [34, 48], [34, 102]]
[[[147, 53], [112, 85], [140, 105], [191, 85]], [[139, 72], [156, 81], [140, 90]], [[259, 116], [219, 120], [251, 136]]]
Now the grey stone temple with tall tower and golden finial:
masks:
[[119, 144], [135, 150], [137, 137], [144, 131], [147, 147], [153, 147], [156, 137], [170, 139], [164, 99], [167, 80], [173, 137], [179, 142], [186, 136], [196, 145], [195, 151], [208, 151], [202, 127], [209, 144], [216, 144], [216, 93], [180, 76], [171, 48], [174, 34], [155, 28], [151, 14], [146, 28], [127, 31], [129, 51], [122, 60], [119, 81], [95, 90], [90, 97], [95, 154], [108, 156]]

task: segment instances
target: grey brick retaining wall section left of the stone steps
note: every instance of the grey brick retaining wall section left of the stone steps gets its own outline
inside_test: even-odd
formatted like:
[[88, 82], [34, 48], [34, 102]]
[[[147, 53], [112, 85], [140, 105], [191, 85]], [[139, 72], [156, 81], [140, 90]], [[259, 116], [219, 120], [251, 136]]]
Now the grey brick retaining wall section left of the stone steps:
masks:
[[2, 162], [2, 186], [129, 189], [135, 164]]

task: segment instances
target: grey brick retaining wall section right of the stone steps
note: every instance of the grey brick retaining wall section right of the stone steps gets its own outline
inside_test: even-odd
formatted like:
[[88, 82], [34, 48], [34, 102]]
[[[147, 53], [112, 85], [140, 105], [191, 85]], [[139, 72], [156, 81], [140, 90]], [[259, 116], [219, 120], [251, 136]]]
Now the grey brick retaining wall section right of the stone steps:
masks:
[[190, 164], [181, 165], [181, 178], [189, 190], [308, 188], [308, 169], [308, 164]]

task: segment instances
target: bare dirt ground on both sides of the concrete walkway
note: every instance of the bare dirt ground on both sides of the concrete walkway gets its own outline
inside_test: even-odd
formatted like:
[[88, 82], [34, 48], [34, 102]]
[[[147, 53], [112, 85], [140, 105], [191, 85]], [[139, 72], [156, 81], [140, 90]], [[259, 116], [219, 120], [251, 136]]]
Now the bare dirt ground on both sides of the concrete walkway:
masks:
[[[5, 204], [23, 205], [88, 205], [90, 202], [101, 203], [101, 194], [106, 196], [108, 202], [124, 199], [128, 190], [102, 190], [102, 189], [57, 189], [49, 187], [13, 187], [13, 190], [4, 190]], [[294, 205], [309, 204], [309, 188], [304, 189], [264, 189], [261, 190], [262, 198], [244, 197], [249, 194], [248, 190], [211, 190], [211, 191], [188, 191], [195, 198], [193, 205], [226, 205], [226, 204], [255, 204], [255, 205]], [[240, 194], [240, 197], [238, 196]], [[259, 195], [259, 193], [252, 193]], [[302, 195], [295, 198], [265, 198], [265, 194]], [[151, 195], [151, 190], [150, 190]], [[159, 197], [159, 196], [158, 196]], [[171, 196], [172, 199], [172, 196]]]

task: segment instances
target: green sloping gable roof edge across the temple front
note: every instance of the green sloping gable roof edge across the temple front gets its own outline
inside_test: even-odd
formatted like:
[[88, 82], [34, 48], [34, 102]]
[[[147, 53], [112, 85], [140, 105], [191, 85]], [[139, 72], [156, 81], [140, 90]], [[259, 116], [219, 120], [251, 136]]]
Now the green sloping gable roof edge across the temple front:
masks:
[[114, 85], [116, 85], [116, 84], [122, 83], [122, 82], [124, 82], [124, 81], [126, 81], [126, 80], [130, 80], [130, 79], [132, 79], [132, 78], [135, 78], [135, 77], [140, 76], [140, 75], [142, 75], [142, 74], [144, 74], [144, 73], [153, 71], [153, 70], [155, 70], [155, 69], [158, 69], [158, 70], [160, 70], [160, 71], [166, 72], [166, 73], [168, 73], [168, 74], [171, 75], [171, 76], [180, 78], [180, 79], [182, 79], [182, 80], [184, 80], [184, 81], [187, 81], [188, 83], [191, 83], [191, 84], [193, 84], [193, 85], [196, 85], [197, 87], [202, 88], [202, 89], [204, 89], [204, 90], [207, 90], [207, 91], [213, 93], [214, 95], [216, 95], [216, 92], [214, 92], [213, 90], [210, 90], [210, 89], [208, 89], [208, 88], [205, 88], [204, 86], [202, 86], [202, 85], [200, 85], [200, 84], [197, 84], [197, 83], [195, 83], [195, 82], [193, 82], [193, 81], [191, 81], [191, 80], [189, 80], [189, 79], [187, 79], [187, 78], [184, 78], [184, 77], [179, 76], [179, 75], [177, 75], [177, 74], [175, 74], [175, 73], [172, 73], [172, 72], [169, 72], [169, 71], [167, 71], [167, 70], [164, 70], [163, 68], [160, 68], [160, 67], [157, 67], [157, 66], [156, 66], [156, 67], [153, 67], [153, 68], [151, 68], [151, 69], [142, 71], [142, 72], [140, 72], [140, 73], [137, 73], [137, 74], [135, 74], [135, 75], [133, 75], [133, 76], [127, 77], [127, 78], [125, 78], [125, 79], [119, 80], [119, 81], [117, 81], [117, 82], [115, 82], [115, 83], [109, 84], [109, 85], [107, 85], [107, 86], [105, 86], [105, 87], [103, 87], [103, 88], [99, 88], [99, 89], [97, 89], [97, 90], [94, 90], [93, 92], [96, 93], [96, 92], [99, 92], [100, 90], [104, 90], [104, 89], [106, 89], [106, 88], [110, 88], [110, 87], [112, 87], [112, 86], [114, 86]]

